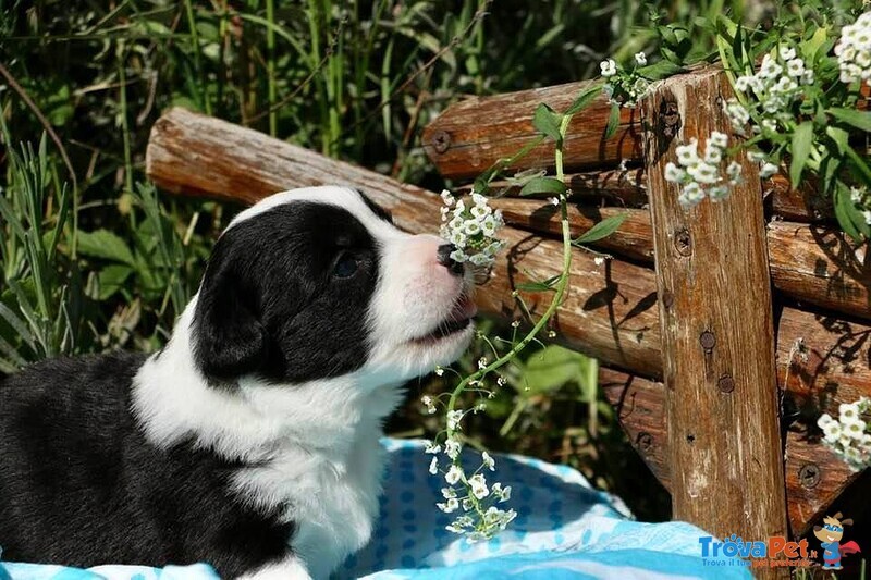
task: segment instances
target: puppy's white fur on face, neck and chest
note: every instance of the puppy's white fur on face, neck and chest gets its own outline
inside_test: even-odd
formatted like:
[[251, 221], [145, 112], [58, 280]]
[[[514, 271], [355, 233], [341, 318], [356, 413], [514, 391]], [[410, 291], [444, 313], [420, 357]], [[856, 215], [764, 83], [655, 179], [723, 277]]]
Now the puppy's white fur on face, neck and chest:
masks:
[[[191, 439], [226, 458], [260, 461], [234, 477], [240, 497], [253, 506], [279, 507], [295, 521], [294, 553], [315, 578], [326, 578], [371, 534], [383, 471], [378, 440], [383, 419], [402, 400], [397, 385], [455, 360], [474, 329], [469, 324], [427, 344], [415, 341], [445, 320], [458, 295], [469, 292], [470, 279], [438, 263], [439, 238], [397, 230], [354, 190], [277, 194], [240, 213], [229, 227], [303, 200], [344, 208], [377, 242], [379, 277], [365, 314], [370, 354], [361, 368], [293, 385], [243, 377], [238, 390], [211, 387], [195, 363], [194, 297], [167, 347], [136, 374], [133, 406], [146, 435], [160, 447]], [[295, 577], [299, 563], [285, 564], [250, 578]]]

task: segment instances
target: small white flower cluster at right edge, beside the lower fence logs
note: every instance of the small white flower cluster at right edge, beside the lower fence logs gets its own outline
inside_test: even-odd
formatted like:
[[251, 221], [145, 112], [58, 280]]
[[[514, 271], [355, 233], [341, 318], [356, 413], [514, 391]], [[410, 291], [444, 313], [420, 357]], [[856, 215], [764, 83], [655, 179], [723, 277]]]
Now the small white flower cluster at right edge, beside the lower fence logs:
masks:
[[868, 416], [871, 414], [871, 399], [860, 397], [855, 403], [843, 403], [835, 420], [823, 414], [817, 421], [823, 430], [823, 441], [850, 469], [859, 471], [871, 465], [871, 433], [868, 432]]

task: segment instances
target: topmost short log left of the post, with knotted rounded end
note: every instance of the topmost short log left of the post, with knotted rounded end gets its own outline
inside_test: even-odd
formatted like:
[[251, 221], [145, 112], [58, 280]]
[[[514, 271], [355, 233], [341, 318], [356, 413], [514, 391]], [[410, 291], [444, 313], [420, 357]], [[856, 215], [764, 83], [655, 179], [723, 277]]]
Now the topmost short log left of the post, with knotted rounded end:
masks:
[[[500, 159], [513, 157], [539, 135], [532, 114], [539, 103], [564, 111], [587, 87], [589, 81], [535, 88], [494, 97], [473, 97], [452, 106], [424, 129], [424, 149], [442, 175], [475, 177]], [[619, 126], [611, 139], [603, 139], [611, 106], [603, 96], [577, 115], [568, 126], [564, 163], [567, 170], [616, 165], [621, 160], [640, 161], [638, 115], [621, 110]], [[549, 168], [553, 144], [535, 147], [507, 169]]]

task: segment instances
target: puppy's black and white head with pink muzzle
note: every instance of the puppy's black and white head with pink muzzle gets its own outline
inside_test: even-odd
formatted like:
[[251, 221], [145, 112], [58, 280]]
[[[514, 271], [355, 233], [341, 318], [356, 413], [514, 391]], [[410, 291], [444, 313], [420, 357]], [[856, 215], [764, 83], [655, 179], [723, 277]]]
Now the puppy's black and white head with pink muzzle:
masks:
[[218, 382], [357, 373], [373, 385], [450, 363], [475, 306], [444, 246], [397, 230], [353, 189], [266, 198], [212, 250], [191, 329], [196, 362]]

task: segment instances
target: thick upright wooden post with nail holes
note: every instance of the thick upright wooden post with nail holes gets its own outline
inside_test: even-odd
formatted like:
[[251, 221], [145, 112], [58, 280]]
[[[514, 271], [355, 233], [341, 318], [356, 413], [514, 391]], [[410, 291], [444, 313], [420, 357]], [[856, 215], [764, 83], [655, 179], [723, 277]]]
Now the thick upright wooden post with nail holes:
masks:
[[[664, 177], [675, 147], [729, 134], [715, 70], [673, 77], [643, 104], [674, 518], [720, 538], [786, 535], [774, 328], [758, 168], [692, 209]], [[772, 573], [765, 572], [765, 577]], [[778, 576], [778, 573], [773, 573]]]

